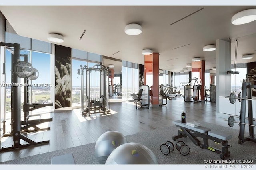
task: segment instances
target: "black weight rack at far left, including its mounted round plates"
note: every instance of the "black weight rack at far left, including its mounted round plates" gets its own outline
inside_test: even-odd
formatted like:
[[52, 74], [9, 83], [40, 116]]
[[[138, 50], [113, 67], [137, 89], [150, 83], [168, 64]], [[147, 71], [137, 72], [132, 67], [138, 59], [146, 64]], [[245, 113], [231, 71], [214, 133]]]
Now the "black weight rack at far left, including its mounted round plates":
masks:
[[[11, 57], [11, 132], [7, 134], [5, 132], [6, 128], [6, 117], [5, 117], [5, 108], [4, 110], [4, 117], [3, 121], [0, 122], [3, 123], [3, 136], [13, 136], [13, 145], [12, 147], [2, 147], [0, 146], [0, 151], [8, 150], [8, 149], [15, 149], [20, 147], [27, 147], [31, 145], [37, 145], [37, 144], [43, 144], [43, 143], [49, 143], [49, 141], [41, 141], [41, 142], [35, 142], [25, 135], [22, 135], [24, 132], [30, 132], [30, 131], [39, 131], [39, 130], [45, 130], [40, 129], [37, 127], [37, 125], [52, 121], [52, 118], [50, 119], [41, 119], [41, 115], [29, 115], [29, 111], [44, 107], [44, 106], [52, 106], [52, 104], [29, 104], [28, 100], [28, 86], [24, 86], [24, 84], [28, 84], [28, 78], [31, 78], [31, 80], [35, 80], [38, 78], [39, 73], [38, 70], [33, 69], [32, 65], [28, 63], [28, 55], [23, 55], [24, 61], [20, 61], [20, 44], [14, 43], [2, 43], [0, 42], [1, 47], [1, 53], [4, 53], [4, 49], [13, 49], [12, 57]], [[3, 63], [3, 83], [5, 83], [5, 57], [1, 57], [1, 63]], [[24, 120], [21, 120], [21, 86], [20, 78], [24, 78], [24, 105], [23, 105], [23, 112], [24, 112]], [[2, 79], [2, 78], [1, 78]], [[3, 83], [1, 85], [3, 85]], [[4, 89], [1, 89], [1, 92], [5, 94], [5, 86]], [[5, 107], [5, 95], [3, 97], [1, 96], [1, 99], [4, 101], [4, 107]], [[32, 107], [32, 108], [31, 108]], [[2, 109], [1, 109], [2, 111]], [[29, 120], [32, 116], [39, 116], [39, 119], [37, 120]], [[1, 118], [1, 116], [0, 116]], [[2, 120], [2, 119], [1, 119]], [[30, 127], [33, 127], [34, 130], [28, 130]], [[50, 129], [50, 128], [46, 128]], [[2, 138], [2, 136], [1, 136]], [[0, 138], [0, 145], [1, 145], [1, 138]], [[20, 143], [21, 140], [25, 141], [26, 144]]]

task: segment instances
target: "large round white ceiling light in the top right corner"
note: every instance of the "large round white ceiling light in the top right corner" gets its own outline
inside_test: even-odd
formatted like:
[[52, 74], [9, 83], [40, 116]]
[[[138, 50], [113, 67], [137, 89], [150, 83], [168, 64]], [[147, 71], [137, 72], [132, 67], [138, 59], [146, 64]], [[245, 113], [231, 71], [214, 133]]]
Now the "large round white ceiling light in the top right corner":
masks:
[[236, 13], [231, 18], [231, 22], [234, 25], [241, 25], [256, 20], [256, 9], [243, 10]]

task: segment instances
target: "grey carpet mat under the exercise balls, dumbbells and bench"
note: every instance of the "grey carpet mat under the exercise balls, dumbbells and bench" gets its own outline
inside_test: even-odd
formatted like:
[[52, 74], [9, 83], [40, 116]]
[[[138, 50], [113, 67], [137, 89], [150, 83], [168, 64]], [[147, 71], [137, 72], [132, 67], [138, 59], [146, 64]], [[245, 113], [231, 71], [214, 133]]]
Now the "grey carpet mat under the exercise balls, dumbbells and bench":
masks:
[[[246, 141], [242, 145], [238, 144], [238, 130], [204, 122], [201, 122], [201, 125], [212, 130], [222, 131], [232, 135], [232, 139], [228, 141], [232, 147], [229, 148], [230, 157], [226, 158], [227, 160], [234, 160], [235, 162], [238, 160], [252, 160], [253, 164], [256, 163], [256, 143]], [[160, 151], [161, 144], [166, 141], [171, 141], [175, 146], [176, 142], [179, 141], [179, 139], [177, 141], [172, 140], [172, 136], [178, 135], [178, 129], [179, 128], [176, 126], [171, 126], [164, 129], [156, 129], [144, 133], [128, 135], [126, 136], [126, 139], [128, 142], [141, 143], [152, 150], [158, 158], [159, 164], [205, 164], [205, 160], [207, 160], [208, 163], [211, 163], [209, 161], [221, 161], [221, 164], [224, 164], [220, 159], [219, 154], [207, 149], [201, 149], [192, 143], [188, 137], [180, 139], [190, 147], [190, 153], [187, 156], [181, 155], [176, 149], [167, 156], [162, 154]], [[209, 141], [209, 145], [221, 149], [221, 144], [218, 145]], [[78, 147], [1, 162], [0, 164], [51, 164], [52, 157], [68, 153], [73, 154], [76, 164], [99, 164], [94, 155], [94, 147], [95, 143], [90, 143]]]

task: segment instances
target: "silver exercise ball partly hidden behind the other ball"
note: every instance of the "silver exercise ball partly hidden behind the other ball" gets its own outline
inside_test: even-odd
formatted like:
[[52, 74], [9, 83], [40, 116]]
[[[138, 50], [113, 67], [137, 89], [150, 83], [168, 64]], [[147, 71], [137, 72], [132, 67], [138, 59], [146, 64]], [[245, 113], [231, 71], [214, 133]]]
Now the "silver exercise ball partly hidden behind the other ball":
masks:
[[105, 164], [108, 156], [118, 146], [127, 143], [124, 135], [118, 131], [107, 131], [103, 133], [95, 144], [95, 156], [100, 164]]

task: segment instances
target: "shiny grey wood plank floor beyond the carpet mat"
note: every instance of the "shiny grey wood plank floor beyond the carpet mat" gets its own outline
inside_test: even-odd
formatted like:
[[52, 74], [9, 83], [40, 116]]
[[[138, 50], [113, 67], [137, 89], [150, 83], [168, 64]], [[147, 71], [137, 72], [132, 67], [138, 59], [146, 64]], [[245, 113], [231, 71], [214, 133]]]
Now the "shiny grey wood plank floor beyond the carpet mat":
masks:
[[[186, 121], [228, 126], [226, 121], [215, 117], [215, 103], [186, 103], [182, 97], [168, 100], [166, 106], [143, 109], [136, 109], [133, 102], [110, 102], [110, 109], [111, 114], [92, 114], [90, 117], [82, 117], [80, 109], [45, 114], [44, 117], [52, 117], [53, 121], [42, 124], [42, 127], [51, 129], [25, 135], [34, 141], [50, 140], [50, 143], [2, 151], [0, 162], [94, 143], [102, 133], [109, 130], [132, 135], [172, 126], [173, 120], [181, 119], [182, 111], [186, 111]], [[12, 137], [4, 137], [1, 142], [1, 147], [13, 145]]]

